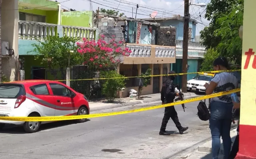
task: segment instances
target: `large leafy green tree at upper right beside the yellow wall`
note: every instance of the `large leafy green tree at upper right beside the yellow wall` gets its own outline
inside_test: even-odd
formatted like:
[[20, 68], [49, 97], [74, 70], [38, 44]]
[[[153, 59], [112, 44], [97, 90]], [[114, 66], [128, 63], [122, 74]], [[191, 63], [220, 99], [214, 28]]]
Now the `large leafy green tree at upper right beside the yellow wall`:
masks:
[[200, 32], [207, 49], [216, 48], [220, 56], [235, 63], [241, 62], [242, 40], [238, 32], [243, 25], [243, 3], [244, 0], [211, 0], [205, 14], [211, 22]]

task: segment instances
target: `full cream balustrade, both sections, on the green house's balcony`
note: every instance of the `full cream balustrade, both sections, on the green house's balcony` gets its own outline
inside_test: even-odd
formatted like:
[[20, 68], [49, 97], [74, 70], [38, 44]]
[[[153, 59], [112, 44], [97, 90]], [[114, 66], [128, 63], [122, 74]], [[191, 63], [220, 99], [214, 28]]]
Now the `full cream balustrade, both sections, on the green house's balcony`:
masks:
[[[50, 23], [39, 23], [31, 21], [19, 21], [19, 39], [24, 40], [44, 40], [47, 36], [57, 35], [57, 26], [56, 24]], [[62, 26], [63, 36], [68, 37], [77, 37], [78, 41], [81, 41], [83, 38], [89, 40], [95, 39], [95, 30], [94, 28], [86, 27], [73, 27], [73, 26]], [[58, 30], [59, 31], [59, 30]], [[60, 34], [60, 33], [59, 33]]]

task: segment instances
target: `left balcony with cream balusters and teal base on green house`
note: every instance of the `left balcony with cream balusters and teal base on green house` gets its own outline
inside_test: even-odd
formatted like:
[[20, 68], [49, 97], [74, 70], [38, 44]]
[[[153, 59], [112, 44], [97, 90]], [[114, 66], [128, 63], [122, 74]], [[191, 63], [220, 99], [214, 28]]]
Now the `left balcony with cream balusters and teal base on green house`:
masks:
[[95, 40], [96, 28], [86, 27], [74, 27], [65, 25], [56, 25], [50, 23], [39, 23], [31, 21], [19, 21], [19, 55], [36, 55], [35, 52], [31, 52], [34, 47], [32, 44], [39, 44], [38, 41], [44, 41], [47, 36], [60, 37], [77, 37], [78, 42], [83, 38], [88, 40]]

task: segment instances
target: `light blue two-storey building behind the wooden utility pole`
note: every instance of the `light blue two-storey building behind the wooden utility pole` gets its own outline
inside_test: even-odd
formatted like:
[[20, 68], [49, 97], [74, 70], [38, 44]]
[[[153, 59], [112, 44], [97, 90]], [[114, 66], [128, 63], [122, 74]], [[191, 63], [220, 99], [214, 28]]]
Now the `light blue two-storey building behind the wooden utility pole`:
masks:
[[[161, 27], [175, 27], [176, 28], [176, 63], [170, 65], [170, 70], [176, 73], [182, 73], [182, 53], [183, 53], [183, 17], [175, 15], [173, 17], [165, 18], [149, 18], [143, 19], [149, 22], [157, 22]], [[198, 72], [206, 52], [205, 47], [196, 42], [196, 20], [190, 19], [189, 22], [189, 43], [188, 43], [188, 73]], [[194, 74], [188, 75], [187, 80], [195, 77]], [[181, 84], [181, 77], [175, 81]]]

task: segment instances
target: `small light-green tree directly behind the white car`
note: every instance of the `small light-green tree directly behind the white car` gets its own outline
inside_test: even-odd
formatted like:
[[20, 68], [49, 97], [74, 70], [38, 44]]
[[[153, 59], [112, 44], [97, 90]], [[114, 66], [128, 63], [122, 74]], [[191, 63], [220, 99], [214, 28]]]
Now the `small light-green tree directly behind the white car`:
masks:
[[201, 64], [200, 71], [201, 72], [213, 71], [213, 62], [219, 56], [220, 56], [220, 54], [216, 50], [214, 50], [212, 48], [208, 49], [207, 52], [204, 54], [204, 61]]

